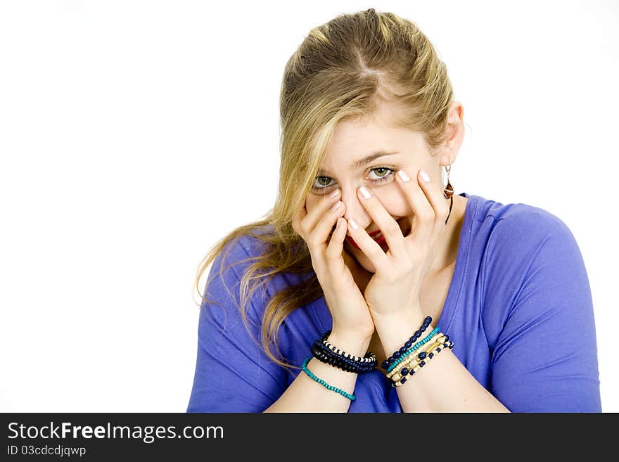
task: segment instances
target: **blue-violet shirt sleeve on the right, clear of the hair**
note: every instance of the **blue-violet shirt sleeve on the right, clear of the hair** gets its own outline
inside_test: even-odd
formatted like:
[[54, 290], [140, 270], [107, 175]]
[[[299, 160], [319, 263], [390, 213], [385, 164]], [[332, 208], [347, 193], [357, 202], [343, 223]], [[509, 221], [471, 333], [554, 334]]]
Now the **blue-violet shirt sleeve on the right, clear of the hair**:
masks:
[[[488, 290], [507, 300], [509, 284], [519, 288], [504, 302], [490, 392], [512, 412], [601, 412], [592, 296], [573, 234], [545, 211], [509, 217], [495, 231], [510, 269]], [[518, 245], [525, 241], [535, 244]]]

